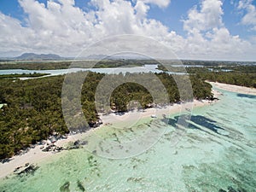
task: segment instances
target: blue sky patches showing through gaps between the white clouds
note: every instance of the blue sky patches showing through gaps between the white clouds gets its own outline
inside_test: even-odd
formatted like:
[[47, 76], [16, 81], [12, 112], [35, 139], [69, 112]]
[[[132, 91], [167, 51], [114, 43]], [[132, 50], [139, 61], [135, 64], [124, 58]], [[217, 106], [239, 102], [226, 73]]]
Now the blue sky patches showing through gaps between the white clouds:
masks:
[[[47, 3], [47, 0], [39, 0], [40, 3]], [[234, 4], [230, 1], [224, 2], [224, 23], [229, 26], [230, 32], [234, 34], [239, 34], [243, 38], [247, 38], [252, 32], [248, 32], [246, 29], [242, 28], [238, 23], [241, 20], [241, 14], [238, 13]], [[236, 1], [238, 2], [238, 1]], [[132, 3], [132, 2], [131, 2]], [[148, 18], [160, 20], [164, 25], [168, 26], [171, 30], [176, 30], [177, 32], [185, 35], [183, 32], [182, 18], [186, 18], [187, 11], [196, 6], [198, 0], [176, 0], [172, 1], [167, 8], [160, 8], [157, 5], [150, 5], [150, 10], [148, 11]], [[255, 4], [256, 2], [254, 2]], [[90, 6], [90, 0], [76, 0], [75, 5], [84, 11], [88, 9], [94, 9]], [[0, 11], [5, 15], [11, 15], [20, 21], [24, 22], [26, 15], [17, 0], [1, 0], [0, 1]]]

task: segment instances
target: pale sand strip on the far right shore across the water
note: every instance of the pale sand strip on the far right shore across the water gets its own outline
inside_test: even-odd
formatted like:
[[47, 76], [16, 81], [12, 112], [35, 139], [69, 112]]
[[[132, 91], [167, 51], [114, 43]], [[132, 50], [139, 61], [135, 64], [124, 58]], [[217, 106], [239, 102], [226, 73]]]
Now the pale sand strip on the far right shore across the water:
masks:
[[218, 83], [218, 82], [208, 82], [207, 81], [207, 83], [212, 84], [213, 86], [215, 86], [216, 88], [221, 89], [221, 90], [228, 90], [231, 92], [256, 96], [255, 88], [243, 87], [243, 86], [238, 86], [238, 85], [234, 85], [234, 84], [222, 84], [222, 83]]

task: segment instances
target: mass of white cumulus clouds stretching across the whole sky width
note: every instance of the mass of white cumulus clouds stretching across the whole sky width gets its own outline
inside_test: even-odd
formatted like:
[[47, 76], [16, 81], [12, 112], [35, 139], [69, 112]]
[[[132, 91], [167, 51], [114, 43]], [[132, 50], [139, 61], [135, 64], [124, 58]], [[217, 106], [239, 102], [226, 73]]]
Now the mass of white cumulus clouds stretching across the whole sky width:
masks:
[[31, 51], [74, 56], [102, 38], [136, 34], [166, 44], [181, 58], [248, 59], [254, 55], [253, 44], [225, 28], [220, 0], [203, 0], [199, 7], [189, 9], [188, 18], [183, 20], [187, 37], [147, 17], [150, 3], [165, 8], [170, 0], [91, 0], [94, 9], [87, 11], [76, 7], [74, 0], [19, 3], [27, 15], [25, 26], [0, 12], [2, 54]]

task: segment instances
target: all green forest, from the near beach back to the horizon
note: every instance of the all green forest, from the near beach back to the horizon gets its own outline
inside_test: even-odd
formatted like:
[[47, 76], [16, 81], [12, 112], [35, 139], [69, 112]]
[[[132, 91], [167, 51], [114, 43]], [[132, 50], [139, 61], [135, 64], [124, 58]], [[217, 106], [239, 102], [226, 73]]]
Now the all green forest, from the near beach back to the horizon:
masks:
[[[54, 64], [55, 63], [55, 64]], [[155, 61], [100, 61], [96, 67], [131, 67], [141, 66], [143, 64], [154, 64]], [[173, 61], [175, 63], [175, 61]], [[226, 62], [224, 62], [226, 63]], [[211, 61], [185, 61], [186, 65], [204, 65], [204, 67], [172, 67], [172, 72], [184, 72], [189, 74], [189, 81], [192, 85], [193, 94], [189, 94], [188, 75], [163, 73], [126, 73], [126, 74], [102, 74], [86, 73], [86, 79], [81, 84], [80, 100], [73, 96], [79, 87], [73, 86], [73, 81], [79, 77], [84, 77], [84, 73], [73, 74], [74, 79], [69, 79], [67, 96], [61, 98], [62, 85], [65, 79], [64, 75], [51, 76], [39, 79], [20, 80], [20, 77], [39, 77], [44, 74], [12, 74], [0, 76], [0, 159], [9, 158], [18, 154], [21, 149], [26, 149], [32, 144], [47, 139], [54, 133], [63, 135], [69, 132], [63, 116], [61, 102], [65, 102], [70, 110], [68, 119], [74, 126], [75, 131], [86, 131], [90, 127], [98, 125], [98, 112], [101, 113], [125, 113], [131, 108], [151, 108], [153, 104], [166, 105], [174, 102], [187, 102], [191, 99], [209, 99], [212, 100], [212, 86], [207, 84], [206, 80], [218, 81], [220, 83], [237, 84], [247, 87], [256, 88], [256, 66], [254, 65], [223, 65], [223, 62]], [[90, 62], [88, 61], [88, 65]], [[15, 63], [1, 64], [0, 68], [24, 68], [24, 69], [55, 69], [66, 68], [70, 62], [38, 62], [32, 63]], [[78, 63], [79, 65], [79, 63]], [[109, 66], [110, 65], [110, 66]], [[166, 68], [159, 65], [159, 69], [165, 71]], [[154, 82], [152, 77], [160, 79], [160, 84], [168, 94], [168, 101], [163, 101], [163, 91], [158, 83]], [[102, 80], [104, 79], [104, 80]], [[120, 83], [118, 79], [126, 79], [127, 83]], [[130, 79], [130, 80], [129, 80]], [[131, 80], [133, 79], [133, 80]], [[139, 79], [143, 79], [137, 84]], [[177, 84], [177, 82], [184, 82]], [[96, 90], [99, 84], [104, 89], [112, 91], [109, 97], [109, 105], [105, 95], [99, 101], [95, 101]], [[156, 96], [151, 95], [148, 86], [157, 92]], [[187, 91], [187, 92], [186, 92]], [[187, 97], [186, 97], [187, 96]], [[62, 99], [62, 100], [61, 100]], [[136, 101], [136, 102], [135, 102]], [[77, 110], [73, 103], [79, 103], [82, 106], [82, 114]], [[103, 104], [102, 104], [103, 103]], [[97, 109], [96, 110], [96, 105]], [[64, 111], [66, 112], [66, 111]], [[87, 124], [80, 124], [76, 117], [84, 115]]]

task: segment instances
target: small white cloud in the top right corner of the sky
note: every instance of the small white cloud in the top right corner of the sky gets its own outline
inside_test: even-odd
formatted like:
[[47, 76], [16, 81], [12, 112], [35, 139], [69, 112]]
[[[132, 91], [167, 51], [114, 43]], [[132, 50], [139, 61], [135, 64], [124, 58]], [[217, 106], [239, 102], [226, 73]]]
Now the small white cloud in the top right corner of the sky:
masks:
[[256, 31], [256, 7], [252, 0], [240, 1], [238, 9], [245, 9], [246, 14], [241, 18], [241, 24], [251, 26], [253, 31]]

